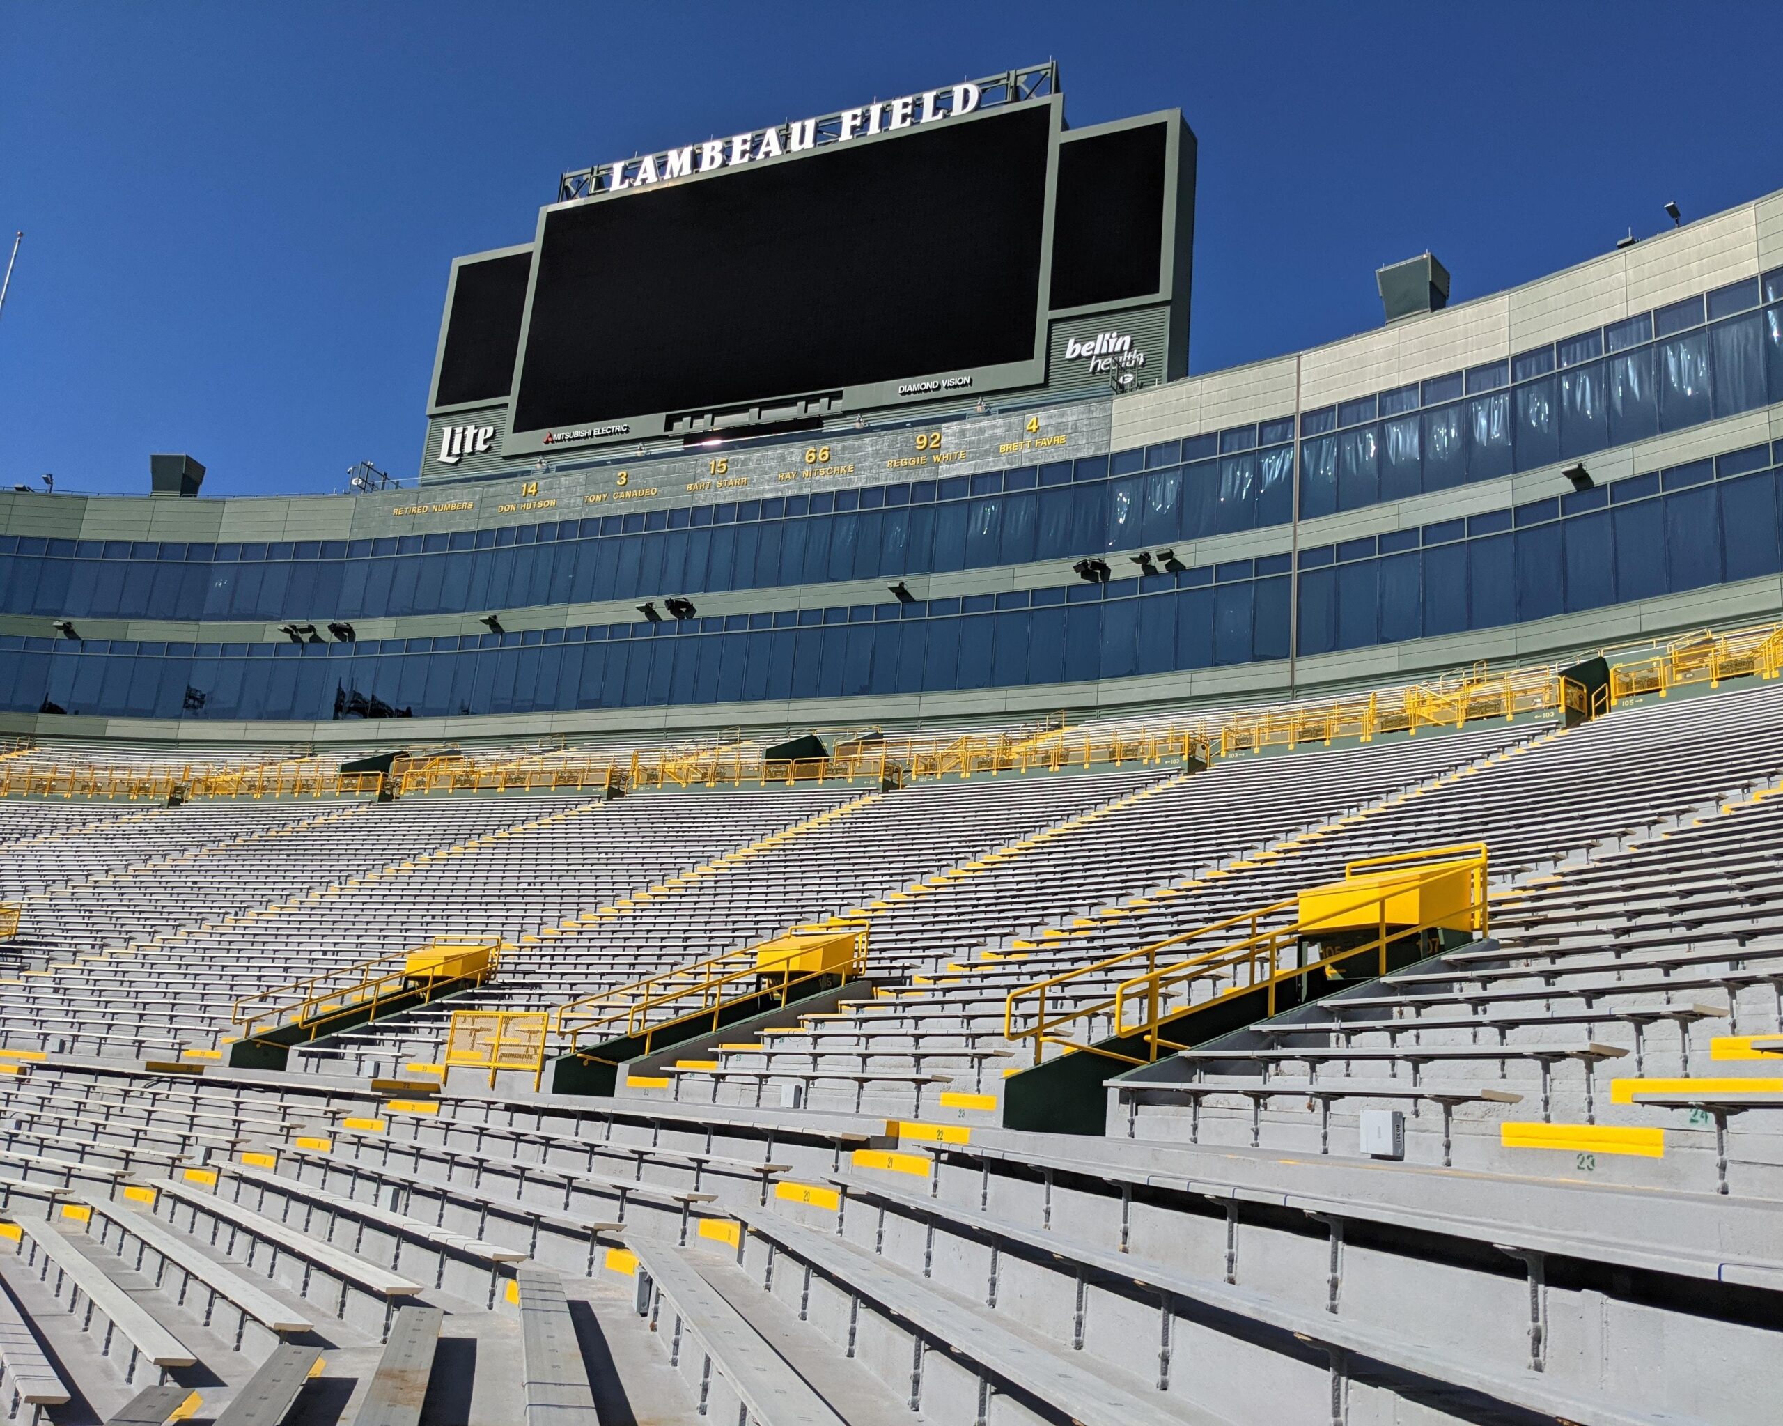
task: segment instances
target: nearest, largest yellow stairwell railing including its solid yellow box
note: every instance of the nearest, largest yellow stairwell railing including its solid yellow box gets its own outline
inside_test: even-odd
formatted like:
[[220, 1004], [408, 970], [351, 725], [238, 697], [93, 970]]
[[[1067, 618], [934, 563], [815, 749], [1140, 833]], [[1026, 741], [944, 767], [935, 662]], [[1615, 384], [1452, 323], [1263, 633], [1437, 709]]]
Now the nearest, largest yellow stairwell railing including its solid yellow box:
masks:
[[[1344, 866], [1343, 882], [1284, 897], [1011, 991], [1004, 1002], [1004, 1037], [1031, 1041], [1034, 1064], [1041, 1062], [1047, 1045], [1146, 1064], [1161, 1050], [1182, 1048], [1168, 1041], [1161, 1027], [1191, 1009], [1266, 989], [1266, 1014], [1275, 1014], [1277, 986], [1311, 970], [1375, 955], [1375, 970], [1384, 975], [1389, 947], [1407, 936], [1434, 929], [1466, 929], [1485, 936], [1485, 879], [1483, 843], [1352, 861]], [[1339, 932], [1346, 934], [1327, 952], [1321, 939]], [[1200, 950], [1209, 941], [1218, 945]], [[1191, 947], [1195, 952], [1184, 955]], [[1309, 947], [1314, 947], [1311, 957]], [[1061, 988], [1079, 982], [1105, 986], [1122, 971], [1127, 973], [1113, 991], [1095, 995], [1088, 1004], [1061, 996]], [[1189, 1004], [1195, 982], [1214, 982], [1218, 989]], [[1145, 1057], [1093, 1045], [1089, 1027], [1102, 1018], [1111, 1027], [1105, 1039], [1145, 1036]]]

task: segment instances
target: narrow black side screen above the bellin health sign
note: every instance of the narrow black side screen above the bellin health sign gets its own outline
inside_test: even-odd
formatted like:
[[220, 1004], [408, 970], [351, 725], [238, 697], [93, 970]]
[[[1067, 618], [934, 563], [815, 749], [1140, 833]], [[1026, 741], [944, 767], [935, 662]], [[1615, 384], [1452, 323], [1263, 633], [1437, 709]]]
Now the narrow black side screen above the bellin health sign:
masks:
[[1145, 298], [1164, 241], [1164, 123], [1059, 144], [1052, 308]]

